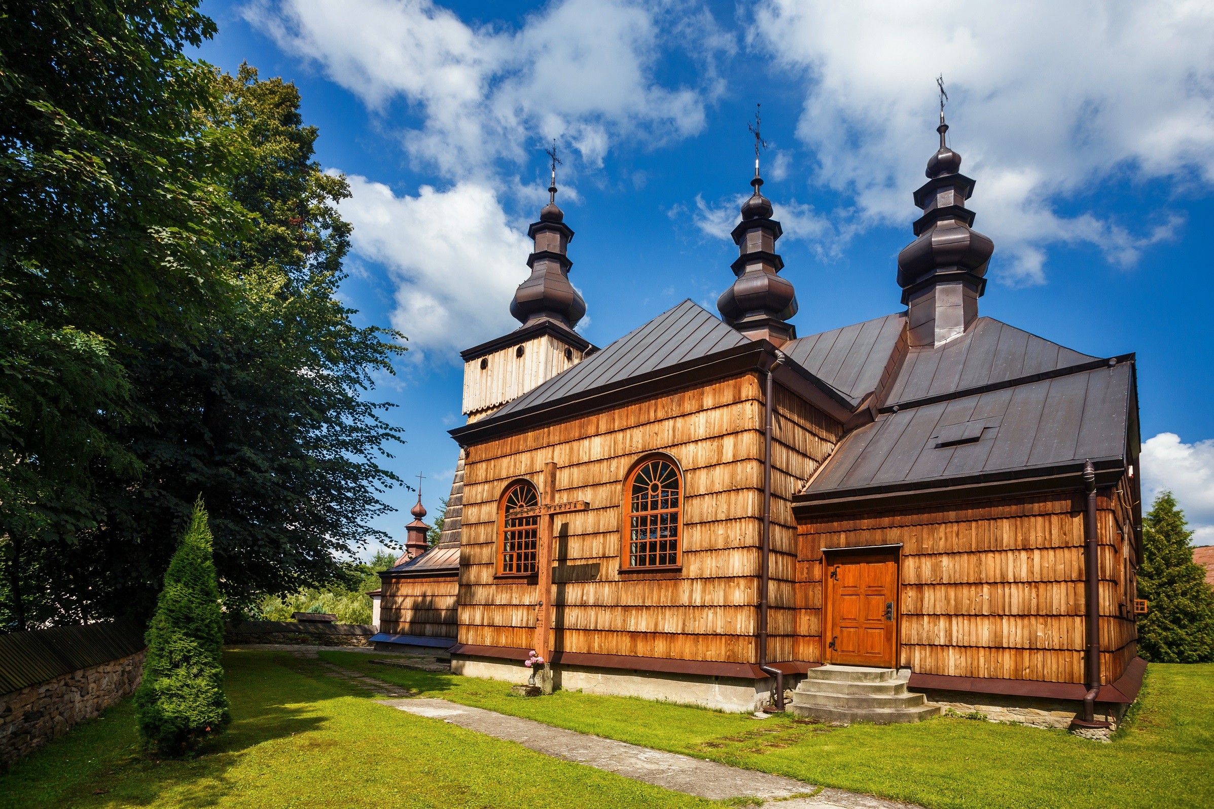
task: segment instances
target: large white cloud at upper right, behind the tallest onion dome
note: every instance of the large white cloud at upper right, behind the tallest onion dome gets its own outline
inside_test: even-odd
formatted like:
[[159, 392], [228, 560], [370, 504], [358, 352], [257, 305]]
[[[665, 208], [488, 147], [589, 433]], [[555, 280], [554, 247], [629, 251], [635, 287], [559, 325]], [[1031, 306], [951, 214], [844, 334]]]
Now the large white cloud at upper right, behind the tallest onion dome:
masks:
[[943, 73], [951, 146], [980, 181], [975, 227], [1005, 280], [1042, 281], [1057, 244], [1133, 264], [1181, 223], [1057, 212], [1093, 182], [1214, 181], [1210, 4], [771, 0], [750, 34], [805, 78], [798, 136], [817, 153], [815, 181], [855, 195], [858, 224], [914, 215]]

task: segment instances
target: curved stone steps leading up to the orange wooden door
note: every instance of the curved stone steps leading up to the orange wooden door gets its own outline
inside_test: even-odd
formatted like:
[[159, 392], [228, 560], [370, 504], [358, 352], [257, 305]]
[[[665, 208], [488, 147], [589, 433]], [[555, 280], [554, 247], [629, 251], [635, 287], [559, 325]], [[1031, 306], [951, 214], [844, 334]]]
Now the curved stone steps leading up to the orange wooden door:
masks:
[[907, 678], [892, 668], [822, 666], [811, 668], [793, 691], [789, 710], [821, 722], [921, 722], [938, 716], [923, 694], [907, 690]]

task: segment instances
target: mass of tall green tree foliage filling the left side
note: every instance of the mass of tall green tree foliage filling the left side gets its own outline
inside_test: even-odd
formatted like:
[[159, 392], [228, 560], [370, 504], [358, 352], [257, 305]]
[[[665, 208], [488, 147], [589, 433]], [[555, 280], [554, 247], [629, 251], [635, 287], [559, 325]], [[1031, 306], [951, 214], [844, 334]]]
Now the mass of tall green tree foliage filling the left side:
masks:
[[388, 541], [367, 394], [403, 337], [337, 297], [297, 90], [183, 55], [214, 30], [0, 0], [0, 626], [151, 615], [199, 492], [233, 611]]

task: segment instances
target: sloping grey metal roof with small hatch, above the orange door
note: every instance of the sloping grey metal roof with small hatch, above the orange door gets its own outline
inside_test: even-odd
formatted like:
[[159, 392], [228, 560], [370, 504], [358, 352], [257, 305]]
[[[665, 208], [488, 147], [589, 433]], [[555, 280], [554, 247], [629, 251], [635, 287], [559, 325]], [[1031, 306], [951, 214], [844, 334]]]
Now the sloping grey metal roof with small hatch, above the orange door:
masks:
[[1131, 388], [1133, 363], [1118, 363], [883, 414], [843, 440], [799, 500], [1124, 457]]

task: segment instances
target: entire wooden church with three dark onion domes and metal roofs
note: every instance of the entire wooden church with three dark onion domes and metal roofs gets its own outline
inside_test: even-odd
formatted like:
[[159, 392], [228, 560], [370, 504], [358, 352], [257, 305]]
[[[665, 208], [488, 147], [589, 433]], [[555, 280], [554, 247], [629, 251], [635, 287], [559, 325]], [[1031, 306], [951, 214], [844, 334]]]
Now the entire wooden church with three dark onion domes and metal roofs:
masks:
[[994, 245], [947, 129], [904, 308], [807, 336], [756, 161], [720, 317], [591, 346], [554, 171], [522, 326], [463, 354], [442, 541], [382, 574], [376, 640], [731, 711], [1116, 723], [1145, 668], [1135, 358], [980, 315]]

